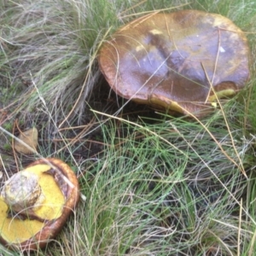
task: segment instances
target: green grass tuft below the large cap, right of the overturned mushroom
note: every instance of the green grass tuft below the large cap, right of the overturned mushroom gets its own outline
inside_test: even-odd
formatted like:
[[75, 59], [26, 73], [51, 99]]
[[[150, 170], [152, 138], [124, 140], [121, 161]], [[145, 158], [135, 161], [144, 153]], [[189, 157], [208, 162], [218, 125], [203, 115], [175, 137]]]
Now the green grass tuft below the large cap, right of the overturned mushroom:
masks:
[[[212, 117], [211, 132], [230, 159], [200, 124], [191, 129], [190, 122], [172, 119], [137, 128], [119, 121], [126, 136], [116, 137], [116, 124], [102, 125], [110, 146], [79, 172], [87, 201], [67, 227], [76, 233], [62, 233], [64, 247], [88, 255], [236, 255], [238, 235], [245, 245], [253, 236], [247, 224], [255, 225], [241, 203], [247, 179], [231, 161], [237, 160], [235, 136], [224, 136], [219, 116]], [[236, 141], [245, 165], [246, 147]]]

